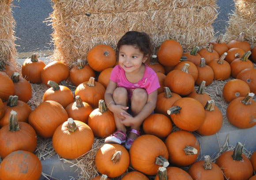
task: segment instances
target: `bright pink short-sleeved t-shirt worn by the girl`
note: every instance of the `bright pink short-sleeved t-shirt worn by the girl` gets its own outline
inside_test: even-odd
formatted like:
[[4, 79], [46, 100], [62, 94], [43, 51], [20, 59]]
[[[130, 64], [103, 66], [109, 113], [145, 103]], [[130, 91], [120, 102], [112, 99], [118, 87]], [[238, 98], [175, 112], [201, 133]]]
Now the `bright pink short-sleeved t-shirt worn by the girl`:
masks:
[[143, 88], [147, 91], [147, 94], [151, 94], [154, 90], [157, 90], [159, 85], [158, 77], [153, 69], [145, 64], [145, 72], [143, 78], [137, 83], [129, 82], [124, 74], [124, 69], [117, 65], [113, 68], [110, 74], [110, 80], [117, 83], [118, 87], [124, 87], [128, 92], [128, 98], [131, 99], [132, 91], [136, 88]]

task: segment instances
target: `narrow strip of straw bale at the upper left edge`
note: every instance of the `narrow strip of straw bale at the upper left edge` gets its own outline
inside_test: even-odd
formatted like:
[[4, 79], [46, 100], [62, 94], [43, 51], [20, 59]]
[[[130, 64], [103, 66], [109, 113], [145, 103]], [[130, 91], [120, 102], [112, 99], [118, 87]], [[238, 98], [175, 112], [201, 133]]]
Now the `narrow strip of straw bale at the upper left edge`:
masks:
[[0, 61], [3, 64], [16, 66], [13, 36], [15, 21], [10, 8], [11, 2], [12, 0], [0, 0]]

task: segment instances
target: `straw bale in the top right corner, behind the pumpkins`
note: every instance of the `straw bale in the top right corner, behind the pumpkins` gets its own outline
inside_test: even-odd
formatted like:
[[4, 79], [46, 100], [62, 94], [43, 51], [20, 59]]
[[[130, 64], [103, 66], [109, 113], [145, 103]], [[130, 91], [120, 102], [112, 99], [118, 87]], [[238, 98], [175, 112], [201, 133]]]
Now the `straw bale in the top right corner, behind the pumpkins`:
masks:
[[234, 0], [235, 11], [230, 14], [224, 38], [227, 42], [236, 39], [241, 32], [245, 41], [256, 46], [256, 0]]

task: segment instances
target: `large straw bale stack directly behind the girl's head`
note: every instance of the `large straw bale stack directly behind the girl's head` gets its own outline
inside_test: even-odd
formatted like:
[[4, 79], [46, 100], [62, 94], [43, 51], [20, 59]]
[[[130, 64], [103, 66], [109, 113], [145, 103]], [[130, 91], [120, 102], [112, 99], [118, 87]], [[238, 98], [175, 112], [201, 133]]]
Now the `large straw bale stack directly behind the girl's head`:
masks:
[[98, 44], [114, 49], [129, 30], [147, 32], [154, 52], [166, 39], [184, 51], [205, 46], [213, 37], [217, 18], [215, 0], [53, 0], [50, 15], [55, 59], [72, 64], [86, 59]]

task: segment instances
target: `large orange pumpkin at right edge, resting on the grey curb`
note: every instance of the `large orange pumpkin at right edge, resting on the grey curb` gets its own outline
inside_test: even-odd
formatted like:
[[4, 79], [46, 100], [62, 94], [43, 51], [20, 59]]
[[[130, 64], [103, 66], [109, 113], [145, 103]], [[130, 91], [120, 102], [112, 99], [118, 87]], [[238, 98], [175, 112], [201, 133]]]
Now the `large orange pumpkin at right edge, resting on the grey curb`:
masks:
[[256, 125], [256, 101], [253, 93], [245, 97], [233, 99], [227, 107], [226, 116], [231, 124], [239, 128], [249, 128]]

